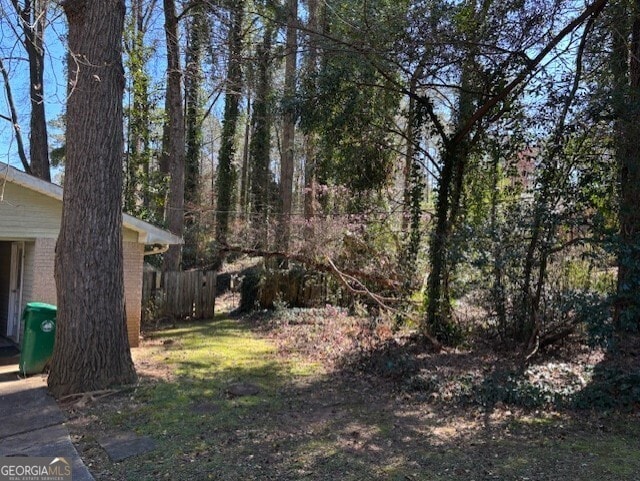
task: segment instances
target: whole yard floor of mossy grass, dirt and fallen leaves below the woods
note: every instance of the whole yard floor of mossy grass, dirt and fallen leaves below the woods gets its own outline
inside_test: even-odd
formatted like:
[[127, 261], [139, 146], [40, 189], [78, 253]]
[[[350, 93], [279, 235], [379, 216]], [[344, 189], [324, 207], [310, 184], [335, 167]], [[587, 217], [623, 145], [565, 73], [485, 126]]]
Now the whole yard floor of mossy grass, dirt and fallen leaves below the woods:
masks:
[[[341, 309], [280, 310], [160, 326], [134, 350], [139, 386], [65, 409], [97, 480], [638, 481], [637, 410], [558, 402], [602, 356], [557, 353], [516, 379], [490, 349], [433, 353]], [[157, 448], [114, 463], [97, 441], [114, 431]]]

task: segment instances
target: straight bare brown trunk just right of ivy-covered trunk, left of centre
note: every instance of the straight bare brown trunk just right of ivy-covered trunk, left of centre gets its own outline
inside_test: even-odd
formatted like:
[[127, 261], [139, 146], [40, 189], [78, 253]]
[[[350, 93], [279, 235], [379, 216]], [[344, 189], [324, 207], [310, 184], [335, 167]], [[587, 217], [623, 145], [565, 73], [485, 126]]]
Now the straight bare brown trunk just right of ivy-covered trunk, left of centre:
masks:
[[298, 0], [287, 0], [287, 43], [285, 47], [284, 72], [284, 121], [282, 127], [282, 166], [280, 179], [280, 198], [282, 215], [278, 232], [278, 247], [287, 252], [291, 236], [291, 213], [293, 201], [293, 166], [295, 147], [296, 114], [293, 106], [296, 90], [296, 65], [298, 56], [297, 41]]

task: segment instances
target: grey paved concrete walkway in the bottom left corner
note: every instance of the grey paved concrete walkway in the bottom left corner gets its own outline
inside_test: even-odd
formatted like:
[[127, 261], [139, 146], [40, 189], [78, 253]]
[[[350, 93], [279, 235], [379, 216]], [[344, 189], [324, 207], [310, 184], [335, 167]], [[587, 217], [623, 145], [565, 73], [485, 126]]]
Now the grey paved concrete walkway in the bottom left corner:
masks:
[[78, 455], [66, 418], [47, 394], [44, 375], [18, 378], [18, 366], [0, 367], [0, 456], [64, 457], [74, 481], [94, 478]]

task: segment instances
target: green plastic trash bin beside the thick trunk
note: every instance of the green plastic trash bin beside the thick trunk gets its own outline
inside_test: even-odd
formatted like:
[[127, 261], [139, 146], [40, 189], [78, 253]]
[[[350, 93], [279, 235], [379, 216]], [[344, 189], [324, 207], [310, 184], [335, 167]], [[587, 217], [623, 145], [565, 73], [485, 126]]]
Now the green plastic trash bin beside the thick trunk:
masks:
[[38, 374], [53, 354], [53, 341], [56, 338], [56, 306], [43, 302], [30, 302], [22, 313], [24, 336], [20, 351], [20, 372]]

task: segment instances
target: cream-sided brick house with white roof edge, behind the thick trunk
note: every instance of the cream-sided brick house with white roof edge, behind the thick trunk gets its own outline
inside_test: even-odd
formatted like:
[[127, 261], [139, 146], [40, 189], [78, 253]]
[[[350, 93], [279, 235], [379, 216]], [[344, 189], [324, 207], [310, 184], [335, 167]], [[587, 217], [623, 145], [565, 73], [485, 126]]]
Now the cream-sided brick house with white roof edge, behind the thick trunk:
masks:
[[[55, 245], [62, 187], [0, 162], [0, 337], [20, 342], [27, 302], [56, 304]], [[144, 256], [182, 239], [130, 215], [123, 216], [124, 287], [129, 343], [137, 346]]]

